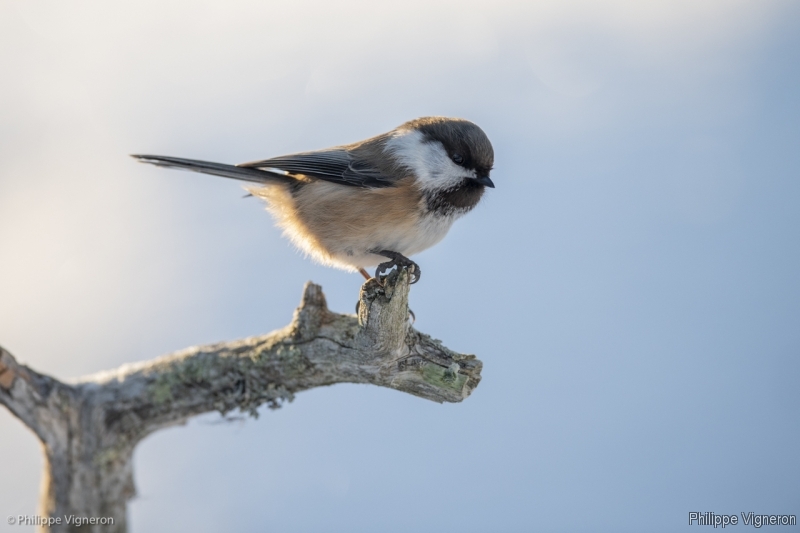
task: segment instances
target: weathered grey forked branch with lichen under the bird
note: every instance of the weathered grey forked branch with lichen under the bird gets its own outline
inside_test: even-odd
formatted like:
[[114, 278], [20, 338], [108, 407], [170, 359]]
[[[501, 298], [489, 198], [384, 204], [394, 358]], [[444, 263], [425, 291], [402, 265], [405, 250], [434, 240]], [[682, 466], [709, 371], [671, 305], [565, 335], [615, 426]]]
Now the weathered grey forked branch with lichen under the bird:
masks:
[[[45, 471], [40, 531], [124, 532], [135, 495], [132, 456], [150, 433], [210, 411], [257, 416], [294, 394], [334, 383], [371, 383], [435, 402], [460, 402], [482, 363], [412, 328], [408, 273], [361, 288], [358, 316], [328, 310], [307, 283], [292, 323], [272, 333], [188, 348], [64, 383], [0, 348], [0, 403], [39, 437]], [[87, 519], [112, 518], [113, 524]], [[76, 525], [76, 518], [81, 525]], [[52, 520], [51, 520], [52, 521]]]

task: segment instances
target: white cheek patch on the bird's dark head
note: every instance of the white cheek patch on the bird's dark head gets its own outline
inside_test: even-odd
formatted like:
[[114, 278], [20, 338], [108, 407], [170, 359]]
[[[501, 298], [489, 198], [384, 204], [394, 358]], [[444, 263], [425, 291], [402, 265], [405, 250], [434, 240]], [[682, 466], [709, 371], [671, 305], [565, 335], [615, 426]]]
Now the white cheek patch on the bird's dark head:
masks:
[[414, 172], [423, 190], [452, 189], [464, 178], [476, 177], [474, 170], [453, 163], [441, 143], [426, 141], [416, 130], [395, 134], [386, 143], [386, 151]]

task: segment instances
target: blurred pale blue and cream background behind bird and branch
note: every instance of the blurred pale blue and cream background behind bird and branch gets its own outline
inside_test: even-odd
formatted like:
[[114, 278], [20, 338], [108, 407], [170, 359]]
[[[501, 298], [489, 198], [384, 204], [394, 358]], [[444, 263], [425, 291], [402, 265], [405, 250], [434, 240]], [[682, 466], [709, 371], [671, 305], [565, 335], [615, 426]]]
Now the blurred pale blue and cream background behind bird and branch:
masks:
[[[486, 200], [416, 259], [458, 405], [376, 387], [135, 455], [134, 532], [676, 531], [800, 514], [800, 4], [0, 0], [0, 344], [59, 378], [268, 332], [303, 283], [240, 162], [477, 122]], [[0, 408], [0, 531], [40, 449]], [[788, 531], [786, 527], [781, 531]]]

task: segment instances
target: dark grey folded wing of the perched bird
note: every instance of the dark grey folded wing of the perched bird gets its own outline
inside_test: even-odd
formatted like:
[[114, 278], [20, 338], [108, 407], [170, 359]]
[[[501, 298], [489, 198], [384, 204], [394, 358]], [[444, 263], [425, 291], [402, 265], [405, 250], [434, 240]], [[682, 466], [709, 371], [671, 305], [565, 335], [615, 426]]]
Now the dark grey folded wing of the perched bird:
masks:
[[352, 187], [391, 187], [393, 180], [345, 148], [289, 154], [236, 165], [241, 168], [278, 169]]

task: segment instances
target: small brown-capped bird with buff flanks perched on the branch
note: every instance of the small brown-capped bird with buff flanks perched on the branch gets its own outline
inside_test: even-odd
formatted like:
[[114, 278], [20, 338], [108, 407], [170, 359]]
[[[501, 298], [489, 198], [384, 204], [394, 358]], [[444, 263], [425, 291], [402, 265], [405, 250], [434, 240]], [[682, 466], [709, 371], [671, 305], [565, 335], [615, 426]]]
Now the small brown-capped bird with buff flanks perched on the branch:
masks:
[[[408, 256], [438, 243], [472, 210], [486, 187], [494, 151], [468, 120], [423, 117], [364, 141], [312, 152], [225, 165], [133, 155], [145, 163], [258, 184], [284, 235], [323, 265], [375, 277], [419, 265]], [[388, 261], [387, 261], [388, 259]]]

